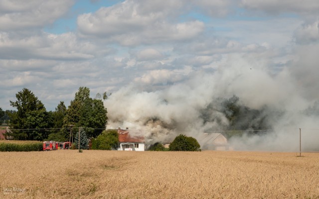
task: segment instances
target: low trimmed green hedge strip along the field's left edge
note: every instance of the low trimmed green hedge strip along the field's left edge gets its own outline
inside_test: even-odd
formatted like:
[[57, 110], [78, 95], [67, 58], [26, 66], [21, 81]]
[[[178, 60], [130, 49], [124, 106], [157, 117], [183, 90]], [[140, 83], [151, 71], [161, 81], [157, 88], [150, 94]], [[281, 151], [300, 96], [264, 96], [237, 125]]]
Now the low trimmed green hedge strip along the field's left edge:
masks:
[[0, 143], [0, 151], [43, 151], [43, 143]]

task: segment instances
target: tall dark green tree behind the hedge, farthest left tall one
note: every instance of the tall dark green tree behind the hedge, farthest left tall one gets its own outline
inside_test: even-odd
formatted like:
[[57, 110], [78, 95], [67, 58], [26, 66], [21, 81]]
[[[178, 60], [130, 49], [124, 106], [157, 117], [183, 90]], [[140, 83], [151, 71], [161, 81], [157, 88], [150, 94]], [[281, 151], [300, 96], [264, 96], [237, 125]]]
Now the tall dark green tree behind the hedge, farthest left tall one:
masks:
[[43, 140], [47, 137], [48, 131], [33, 129], [48, 128], [48, 112], [43, 103], [34, 94], [24, 88], [16, 95], [16, 101], [10, 100], [10, 105], [17, 109], [9, 113], [11, 129], [32, 129], [29, 131], [13, 131], [14, 139]]

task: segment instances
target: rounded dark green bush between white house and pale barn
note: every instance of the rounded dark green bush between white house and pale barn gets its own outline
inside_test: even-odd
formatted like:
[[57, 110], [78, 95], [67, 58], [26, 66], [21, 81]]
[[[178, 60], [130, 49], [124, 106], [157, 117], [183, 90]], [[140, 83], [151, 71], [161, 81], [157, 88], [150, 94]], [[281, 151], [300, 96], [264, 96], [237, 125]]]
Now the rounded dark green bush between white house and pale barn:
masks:
[[200, 151], [200, 145], [193, 137], [178, 135], [169, 144], [169, 151]]

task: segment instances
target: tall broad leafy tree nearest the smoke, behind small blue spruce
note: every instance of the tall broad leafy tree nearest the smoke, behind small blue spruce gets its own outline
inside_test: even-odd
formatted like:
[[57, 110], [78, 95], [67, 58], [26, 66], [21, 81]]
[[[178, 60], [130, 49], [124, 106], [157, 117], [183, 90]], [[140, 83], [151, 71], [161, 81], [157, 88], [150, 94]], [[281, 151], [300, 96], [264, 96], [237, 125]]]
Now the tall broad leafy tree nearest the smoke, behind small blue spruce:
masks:
[[87, 127], [88, 137], [96, 137], [105, 128], [108, 119], [106, 114], [107, 110], [103, 101], [90, 98], [90, 90], [80, 87], [66, 110], [63, 127], [68, 128], [70, 125]]

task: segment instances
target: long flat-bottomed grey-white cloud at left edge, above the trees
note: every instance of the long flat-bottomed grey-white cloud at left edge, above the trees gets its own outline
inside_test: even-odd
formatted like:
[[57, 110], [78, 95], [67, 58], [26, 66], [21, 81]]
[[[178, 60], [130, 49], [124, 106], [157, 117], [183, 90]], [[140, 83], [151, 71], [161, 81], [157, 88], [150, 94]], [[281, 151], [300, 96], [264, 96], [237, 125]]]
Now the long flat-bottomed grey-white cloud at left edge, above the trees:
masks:
[[74, 60], [94, 58], [108, 52], [91, 42], [79, 40], [74, 33], [60, 35], [38, 33], [32, 36], [13, 36], [0, 32], [0, 58], [2, 59], [56, 59]]

